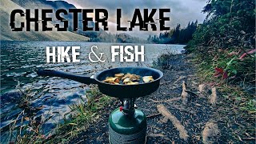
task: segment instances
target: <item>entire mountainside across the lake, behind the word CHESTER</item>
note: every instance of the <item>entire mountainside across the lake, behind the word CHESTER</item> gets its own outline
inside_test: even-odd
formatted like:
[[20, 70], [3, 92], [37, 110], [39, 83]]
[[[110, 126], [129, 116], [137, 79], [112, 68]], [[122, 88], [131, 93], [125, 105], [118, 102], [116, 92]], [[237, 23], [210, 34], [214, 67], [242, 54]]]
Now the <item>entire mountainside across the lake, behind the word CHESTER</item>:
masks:
[[[23, 31], [23, 32], [11, 32], [9, 26], [10, 12], [11, 10], [22, 8], [22, 9], [30, 9], [31, 17], [34, 17], [34, 9], [53, 9], [54, 11], [58, 9], [76, 9], [76, 7], [65, 1], [51, 1], [51, 0], [8, 0], [8, 2], [0, 0], [3, 5], [1, 6], [1, 39], [2, 40], [61, 40], [61, 41], [81, 41], [88, 40], [90, 38], [90, 42], [128, 42], [128, 43], [137, 43], [146, 41], [141, 38], [135, 38], [130, 36], [129, 34], [108, 34], [106, 31], [100, 29], [99, 31], [83, 31], [82, 30], [82, 14], [78, 14], [78, 30], [73, 31], [73, 14], [62, 15], [62, 17], [66, 18], [69, 21], [69, 30], [70, 32], [56, 32], [56, 31], [47, 31], [47, 32], [34, 32], [34, 25], [32, 23], [31, 31]], [[6, 5], [6, 6], [5, 6]], [[41, 15], [41, 10], [39, 10], [39, 16]], [[52, 22], [49, 26], [53, 26], [53, 24], [63, 23], [58, 21], [55, 18], [55, 14], [47, 14], [47, 17], [53, 18]], [[39, 18], [40, 19], [40, 18]], [[24, 18], [18, 19], [18, 21], [24, 21]], [[39, 23], [39, 28], [42, 27], [42, 24]], [[94, 22], [88, 23], [89, 27], [94, 27]], [[56, 29], [53, 29], [56, 30]], [[75, 34], [74, 36], [69, 36], [70, 34]], [[67, 37], [67, 38], [62, 38]], [[87, 37], [87, 38], [86, 38]]]

